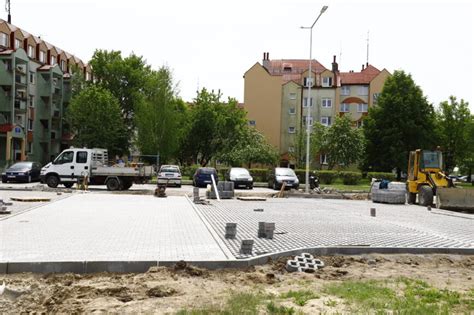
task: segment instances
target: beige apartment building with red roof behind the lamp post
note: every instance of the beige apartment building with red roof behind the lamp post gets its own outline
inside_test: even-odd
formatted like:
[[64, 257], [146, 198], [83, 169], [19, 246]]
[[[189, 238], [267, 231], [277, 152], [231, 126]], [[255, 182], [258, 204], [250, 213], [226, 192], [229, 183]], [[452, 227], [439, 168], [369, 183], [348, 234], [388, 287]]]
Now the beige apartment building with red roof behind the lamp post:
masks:
[[[335, 56], [331, 69], [312, 60], [310, 80], [309, 60], [270, 60], [269, 53], [264, 53], [262, 64], [257, 62], [245, 72], [244, 109], [249, 124], [278, 148], [281, 165], [295, 162], [307, 116], [311, 125], [330, 126], [336, 116], [350, 114], [354, 126], [361, 127], [390, 75], [369, 64], [360, 72], [340, 72], [338, 67]], [[325, 159], [318, 154], [313, 161], [325, 164]]]

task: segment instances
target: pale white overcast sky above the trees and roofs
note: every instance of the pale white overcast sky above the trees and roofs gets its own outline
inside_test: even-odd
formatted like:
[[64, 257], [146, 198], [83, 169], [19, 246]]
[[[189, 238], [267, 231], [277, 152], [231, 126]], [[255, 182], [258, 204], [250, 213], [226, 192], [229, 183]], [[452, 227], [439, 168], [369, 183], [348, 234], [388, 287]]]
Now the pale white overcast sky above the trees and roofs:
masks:
[[[471, 0], [11, 0], [12, 23], [90, 60], [96, 49], [143, 56], [169, 67], [179, 95], [203, 87], [244, 100], [243, 75], [263, 52], [270, 59], [313, 58], [360, 71], [367, 61], [410, 73], [435, 106], [450, 95], [473, 102], [474, 2]], [[5, 19], [7, 14], [0, 13]]]

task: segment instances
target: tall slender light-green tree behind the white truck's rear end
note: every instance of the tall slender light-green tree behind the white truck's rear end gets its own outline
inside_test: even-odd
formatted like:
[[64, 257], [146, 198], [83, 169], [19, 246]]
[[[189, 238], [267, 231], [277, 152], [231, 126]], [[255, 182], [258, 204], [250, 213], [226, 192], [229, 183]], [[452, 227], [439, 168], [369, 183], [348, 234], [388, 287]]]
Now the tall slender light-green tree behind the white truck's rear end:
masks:
[[146, 99], [135, 110], [137, 147], [142, 154], [157, 154], [171, 159], [179, 144], [183, 123], [182, 101], [177, 98], [173, 78], [167, 67], [153, 71], [145, 87]]

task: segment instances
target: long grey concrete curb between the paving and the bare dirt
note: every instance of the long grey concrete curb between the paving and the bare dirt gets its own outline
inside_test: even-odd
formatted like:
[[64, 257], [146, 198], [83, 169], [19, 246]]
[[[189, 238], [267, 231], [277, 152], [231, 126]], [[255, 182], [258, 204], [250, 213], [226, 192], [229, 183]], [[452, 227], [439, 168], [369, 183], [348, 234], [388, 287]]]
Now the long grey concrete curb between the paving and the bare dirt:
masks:
[[[301, 248], [263, 256], [220, 261], [186, 261], [205, 269], [243, 269], [254, 265], [266, 264], [280, 257], [310, 253], [314, 256], [362, 255], [362, 254], [453, 254], [474, 255], [474, 248], [415, 248], [415, 247], [313, 247]], [[150, 267], [172, 267], [177, 261], [54, 261], [54, 262], [2, 262], [0, 274], [22, 272], [32, 273], [139, 273]]]

